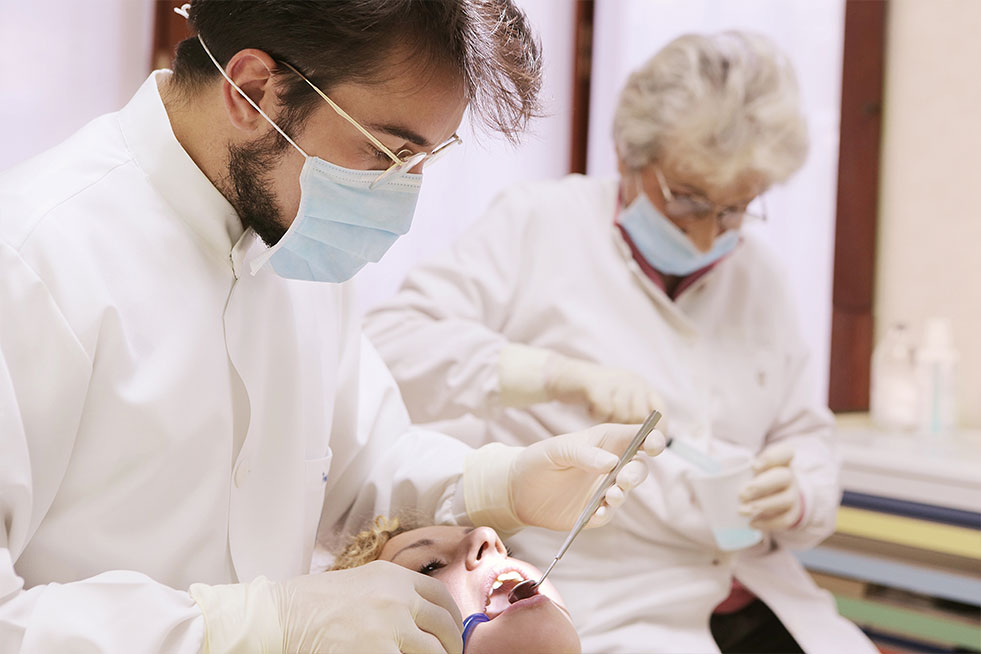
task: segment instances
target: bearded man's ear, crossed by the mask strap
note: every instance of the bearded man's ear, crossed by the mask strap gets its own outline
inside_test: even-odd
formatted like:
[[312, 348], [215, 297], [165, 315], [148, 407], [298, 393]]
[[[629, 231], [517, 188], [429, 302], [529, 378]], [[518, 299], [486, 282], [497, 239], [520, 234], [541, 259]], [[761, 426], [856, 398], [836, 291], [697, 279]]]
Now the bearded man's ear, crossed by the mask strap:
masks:
[[[221, 85], [222, 101], [229, 122], [244, 132], [259, 132], [271, 129], [268, 122], [256, 111], [252, 103], [258, 105], [267, 116], [276, 119], [278, 111], [276, 84], [273, 71], [276, 62], [266, 52], [247, 48], [239, 50], [225, 66], [228, 77], [249, 97], [242, 97], [234, 86], [223, 79]], [[255, 134], [258, 136], [258, 134]]]

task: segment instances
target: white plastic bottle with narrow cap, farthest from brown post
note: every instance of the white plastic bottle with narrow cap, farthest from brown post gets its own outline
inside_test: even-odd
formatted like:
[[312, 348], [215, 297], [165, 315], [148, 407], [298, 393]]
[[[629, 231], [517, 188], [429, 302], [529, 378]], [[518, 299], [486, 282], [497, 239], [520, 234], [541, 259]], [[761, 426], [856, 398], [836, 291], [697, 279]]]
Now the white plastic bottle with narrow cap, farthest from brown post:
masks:
[[920, 397], [920, 431], [946, 434], [957, 426], [957, 351], [950, 322], [931, 318], [916, 356]]

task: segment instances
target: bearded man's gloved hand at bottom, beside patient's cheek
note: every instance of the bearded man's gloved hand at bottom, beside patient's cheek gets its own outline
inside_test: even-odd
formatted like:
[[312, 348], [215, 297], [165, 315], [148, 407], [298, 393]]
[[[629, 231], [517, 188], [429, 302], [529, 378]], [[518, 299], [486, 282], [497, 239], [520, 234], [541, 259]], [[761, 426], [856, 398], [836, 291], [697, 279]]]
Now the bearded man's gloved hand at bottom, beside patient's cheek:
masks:
[[463, 621], [442, 582], [389, 563], [276, 583], [192, 584], [204, 652], [447, 652]]

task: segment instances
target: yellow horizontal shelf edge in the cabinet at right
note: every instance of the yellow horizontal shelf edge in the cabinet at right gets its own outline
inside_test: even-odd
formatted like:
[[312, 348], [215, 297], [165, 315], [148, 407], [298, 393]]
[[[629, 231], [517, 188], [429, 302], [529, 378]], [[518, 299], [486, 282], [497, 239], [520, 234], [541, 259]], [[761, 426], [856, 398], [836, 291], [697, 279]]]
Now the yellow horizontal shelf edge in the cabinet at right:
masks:
[[981, 560], [981, 530], [843, 506], [837, 533]]

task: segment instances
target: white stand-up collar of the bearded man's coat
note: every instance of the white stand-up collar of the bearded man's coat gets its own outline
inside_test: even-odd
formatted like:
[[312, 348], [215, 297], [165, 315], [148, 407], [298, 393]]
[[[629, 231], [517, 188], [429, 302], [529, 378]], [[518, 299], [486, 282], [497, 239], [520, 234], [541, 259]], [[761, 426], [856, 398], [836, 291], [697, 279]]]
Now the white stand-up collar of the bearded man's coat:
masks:
[[169, 70], [150, 74], [119, 112], [120, 128], [150, 184], [210, 251], [233, 266], [233, 244], [242, 241], [241, 249], [255, 239], [174, 136], [157, 86], [170, 75]]

